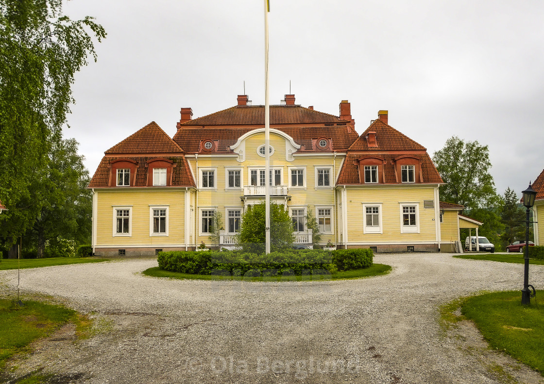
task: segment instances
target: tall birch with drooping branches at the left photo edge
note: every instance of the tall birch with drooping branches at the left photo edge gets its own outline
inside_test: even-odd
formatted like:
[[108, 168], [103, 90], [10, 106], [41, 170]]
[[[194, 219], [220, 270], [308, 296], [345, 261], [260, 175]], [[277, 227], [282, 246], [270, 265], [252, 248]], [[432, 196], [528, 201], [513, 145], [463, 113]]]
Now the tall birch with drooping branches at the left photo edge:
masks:
[[[0, 236], [15, 237], [41, 214], [33, 188], [59, 142], [74, 74], [96, 60], [92, 17], [71, 21], [61, 0], [0, 0]], [[36, 174], [38, 177], [36, 178]]]

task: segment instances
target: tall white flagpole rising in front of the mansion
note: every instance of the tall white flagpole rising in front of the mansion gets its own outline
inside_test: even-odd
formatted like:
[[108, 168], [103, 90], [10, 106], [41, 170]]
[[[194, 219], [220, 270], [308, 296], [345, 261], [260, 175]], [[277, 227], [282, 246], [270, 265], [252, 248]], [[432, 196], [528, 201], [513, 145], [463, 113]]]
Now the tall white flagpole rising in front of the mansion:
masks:
[[268, 100], [268, 12], [269, 0], [264, 0], [264, 191], [265, 191], [265, 252], [270, 253], [270, 104]]

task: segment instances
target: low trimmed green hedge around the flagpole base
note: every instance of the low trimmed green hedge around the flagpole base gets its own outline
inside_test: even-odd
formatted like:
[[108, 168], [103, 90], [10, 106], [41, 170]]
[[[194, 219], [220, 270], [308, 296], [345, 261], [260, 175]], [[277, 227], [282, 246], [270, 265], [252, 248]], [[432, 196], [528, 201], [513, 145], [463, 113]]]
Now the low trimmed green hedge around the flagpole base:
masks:
[[[343, 251], [343, 252], [342, 252]], [[372, 265], [370, 249], [329, 251], [298, 249], [266, 254], [243, 251], [168, 251], [159, 252], [161, 269], [201, 275], [282, 276], [312, 274], [324, 270], [350, 270]]]

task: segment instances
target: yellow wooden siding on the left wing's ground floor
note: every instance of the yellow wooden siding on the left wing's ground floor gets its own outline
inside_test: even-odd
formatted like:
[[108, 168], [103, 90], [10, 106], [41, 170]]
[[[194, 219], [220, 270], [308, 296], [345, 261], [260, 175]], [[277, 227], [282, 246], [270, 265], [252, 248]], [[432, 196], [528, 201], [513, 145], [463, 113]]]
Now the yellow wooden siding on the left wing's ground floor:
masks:
[[[158, 188], [98, 191], [96, 246], [183, 244], [184, 193]], [[113, 207], [131, 205], [132, 236], [113, 236]], [[150, 205], [169, 206], [168, 236], [150, 236]]]

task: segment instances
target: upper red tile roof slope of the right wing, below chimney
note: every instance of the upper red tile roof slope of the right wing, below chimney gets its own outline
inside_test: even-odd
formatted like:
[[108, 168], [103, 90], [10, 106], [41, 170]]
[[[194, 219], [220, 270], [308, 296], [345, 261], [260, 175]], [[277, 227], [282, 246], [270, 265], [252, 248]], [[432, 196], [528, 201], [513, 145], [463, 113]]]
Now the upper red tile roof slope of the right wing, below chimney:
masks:
[[[376, 143], [378, 147], [368, 147], [366, 136], [368, 132], [376, 133]], [[416, 143], [410, 137], [401, 134], [398, 130], [391, 127], [380, 119], [375, 120], [361, 136], [355, 141], [350, 150], [426, 150], [421, 144]]]

